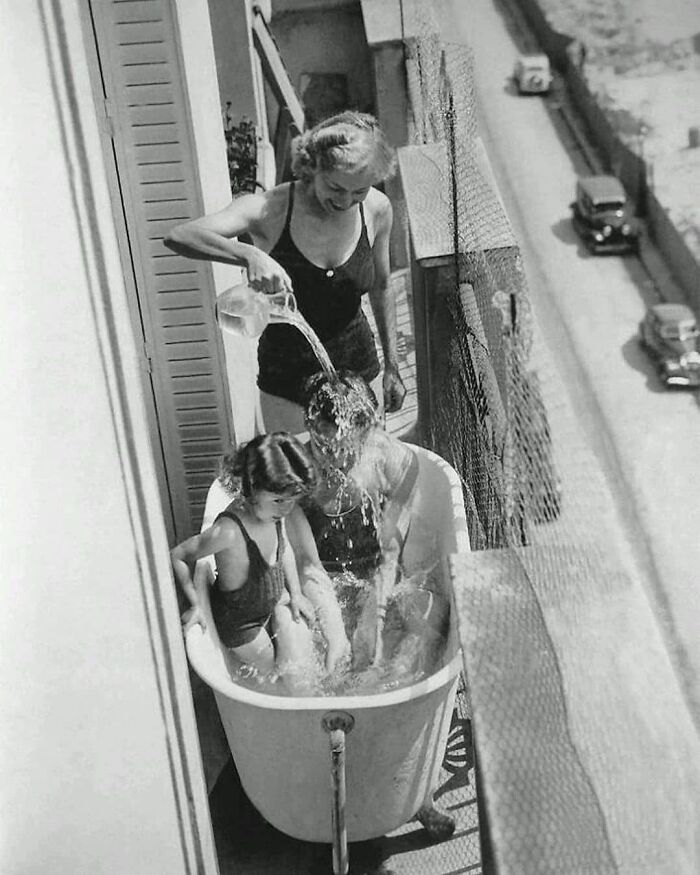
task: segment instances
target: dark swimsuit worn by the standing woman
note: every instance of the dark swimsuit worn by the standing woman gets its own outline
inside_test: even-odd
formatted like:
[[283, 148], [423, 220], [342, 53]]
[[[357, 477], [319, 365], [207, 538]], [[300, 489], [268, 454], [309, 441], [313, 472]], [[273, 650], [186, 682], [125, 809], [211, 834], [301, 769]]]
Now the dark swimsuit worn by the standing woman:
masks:
[[[362, 311], [362, 295], [374, 283], [374, 259], [360, 206], [362, 230], [352, 255], [334, 268], [313, 264], [292, 239], [294, 183], [284, 228], [270, 255], [287, 271], [297, 307], [326, 347], [333, 365], [372, 381], [380, 371], [377, 348]], [[268, 325], [258, 344], [258, 386], [263, 392], [304, 405], [304, 381], [320, 370], [303, 334], [292, 325]]]

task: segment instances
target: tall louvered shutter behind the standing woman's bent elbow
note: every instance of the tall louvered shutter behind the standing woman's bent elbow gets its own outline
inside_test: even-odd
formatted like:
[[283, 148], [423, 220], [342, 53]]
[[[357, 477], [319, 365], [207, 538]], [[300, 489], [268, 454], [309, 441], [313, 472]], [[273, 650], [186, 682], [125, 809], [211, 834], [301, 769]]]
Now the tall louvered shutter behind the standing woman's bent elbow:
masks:
[[232, 425], [211, 266], [163, 245], [171, 226], [203, 212], [175, 9], [168, 0], [91, 5], [152, 371], [164, 501], [182, 539], [199, 529]]

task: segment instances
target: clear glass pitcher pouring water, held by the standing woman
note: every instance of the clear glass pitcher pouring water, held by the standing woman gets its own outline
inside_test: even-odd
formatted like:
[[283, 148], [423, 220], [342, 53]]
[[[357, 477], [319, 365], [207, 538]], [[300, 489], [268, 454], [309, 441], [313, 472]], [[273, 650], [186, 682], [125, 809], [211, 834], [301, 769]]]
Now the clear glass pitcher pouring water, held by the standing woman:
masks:
[[260, 337], [270, 322], [290, 322], [297, 302], [292, 292], [266, 295], [242, 282], [216, 299], [216, 319], [222, 331], [240, 337]]

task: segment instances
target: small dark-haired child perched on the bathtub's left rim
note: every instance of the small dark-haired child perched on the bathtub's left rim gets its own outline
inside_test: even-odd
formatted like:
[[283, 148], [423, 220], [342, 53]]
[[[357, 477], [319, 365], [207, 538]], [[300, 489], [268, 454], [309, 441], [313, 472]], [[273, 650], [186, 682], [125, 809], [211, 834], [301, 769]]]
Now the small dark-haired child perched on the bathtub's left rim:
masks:
[[[183, 615], [184, 631], [205, 623], [193, 573], [198, 559], [213, 555], [210, 602], [221, 643], [234, 664], [252, 666], [263, 676], [276, 667], [292, 687], [311, 677], [315, 660], [307, 623], [317, 614], [329, 671], [349, 646], [332, 584], [298, 507], [316, 479], [313, 461], [293, 436], [274, 432], [253, 438], [222, 461], [220, 480], [239, 497], [210, 528], [171, 552], [175, 579], [191, 604]], [[303, 561], [296, 561], [297, 551]]]

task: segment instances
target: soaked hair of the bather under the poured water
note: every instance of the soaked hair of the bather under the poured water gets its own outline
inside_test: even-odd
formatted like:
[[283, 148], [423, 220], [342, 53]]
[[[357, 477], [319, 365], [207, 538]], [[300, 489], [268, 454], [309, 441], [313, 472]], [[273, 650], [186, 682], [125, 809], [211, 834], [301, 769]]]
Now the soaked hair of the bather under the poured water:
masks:
[[379, 423], [377, 396], [369, 383], [352, 371], [336, 376], [314, 374], [304, 384], [304, 419], [314, 430], [328, 423], [339, 431], [363, 432]]

